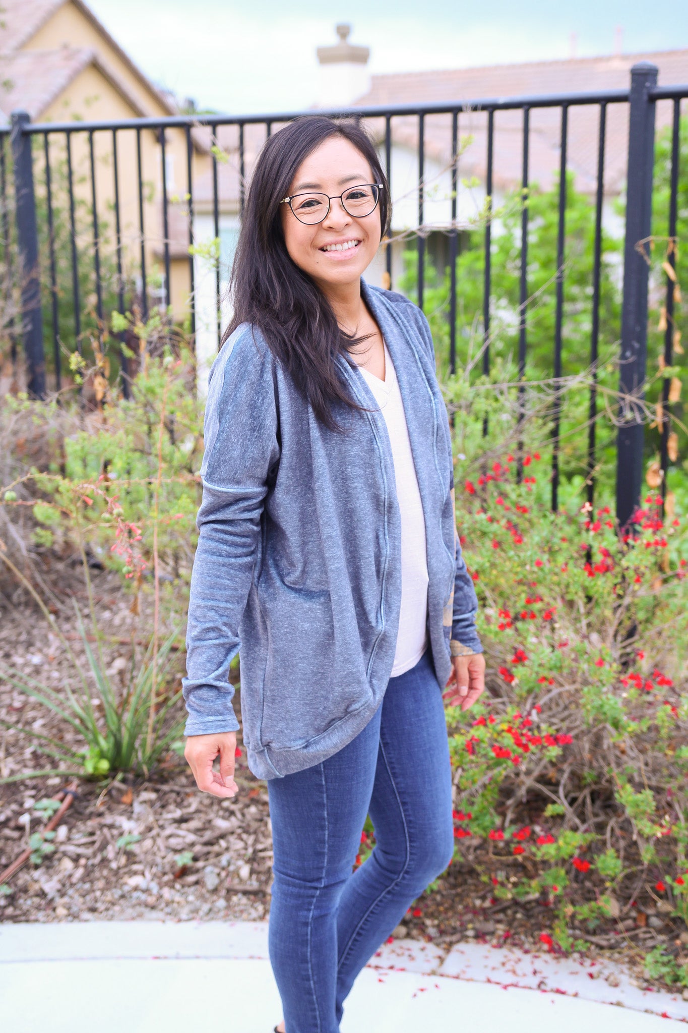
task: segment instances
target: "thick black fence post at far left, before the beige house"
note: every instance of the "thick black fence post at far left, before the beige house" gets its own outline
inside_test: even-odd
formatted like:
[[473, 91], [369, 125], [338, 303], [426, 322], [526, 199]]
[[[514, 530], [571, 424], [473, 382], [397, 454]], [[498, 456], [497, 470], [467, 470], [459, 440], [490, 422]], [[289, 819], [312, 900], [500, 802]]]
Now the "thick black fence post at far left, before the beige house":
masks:
[[22, 340], [26, 354], [27, 389], [33, 398], [45, 397], [43, 315], [38, 275], [38, 229], [33, 189], [31, 136], [24, 132], [30, 122], [26, 112], [12, 112], [11, 144], [14, 165], [14, 209], [22, 285]]

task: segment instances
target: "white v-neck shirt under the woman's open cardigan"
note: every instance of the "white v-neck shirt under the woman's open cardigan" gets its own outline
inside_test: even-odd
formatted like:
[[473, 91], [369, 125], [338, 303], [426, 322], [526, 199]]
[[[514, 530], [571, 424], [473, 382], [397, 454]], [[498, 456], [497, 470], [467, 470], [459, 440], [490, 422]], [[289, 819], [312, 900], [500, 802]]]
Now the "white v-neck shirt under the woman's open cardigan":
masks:
[[401, 611], [390, 677], [415, 667], [428, 646], [428, 563], [425, 516], [411, 451], [408, 428], [394, 364], [385, 345], [385, 379], [359, 367], [380, 406], [394, 460], [396, 495], [401, 514]]

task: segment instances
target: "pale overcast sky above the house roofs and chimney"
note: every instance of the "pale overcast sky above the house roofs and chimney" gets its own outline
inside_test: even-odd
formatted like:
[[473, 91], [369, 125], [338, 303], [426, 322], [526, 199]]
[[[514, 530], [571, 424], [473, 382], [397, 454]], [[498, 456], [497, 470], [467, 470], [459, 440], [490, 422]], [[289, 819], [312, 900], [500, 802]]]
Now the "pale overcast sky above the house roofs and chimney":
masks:
[[317, 100], [316, 46], [353, 25], [370, 71], [688, 49], [688, 0], [89, 0], [158, 85], [230, 114]]

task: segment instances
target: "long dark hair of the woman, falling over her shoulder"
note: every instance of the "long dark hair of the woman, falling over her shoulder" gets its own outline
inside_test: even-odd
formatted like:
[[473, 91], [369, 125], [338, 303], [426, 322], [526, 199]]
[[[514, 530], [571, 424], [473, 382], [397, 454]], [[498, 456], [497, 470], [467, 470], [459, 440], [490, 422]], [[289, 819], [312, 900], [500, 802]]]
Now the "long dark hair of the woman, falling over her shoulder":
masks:
[[234, 314], [223, 344], [241, 323], [253, 323], [270, 351], [292, 376], [318, 419], [337, 430], [332, 405], [351, 399], [336, 358], [361, 338], [345, 334], [329, 302], [316, 283], [292, 261], [280, 217], [280, 201], [289, 193], [297, 168], [330, 136], [343, 136], [361, 152], [380, 194], [383, 236], [389, 221], [389, 191], [375, 149], [364, 129], [352, 120], [308, 115], [270, 136], [253, 171], [241, 231], [232, 265], [230, 292]]

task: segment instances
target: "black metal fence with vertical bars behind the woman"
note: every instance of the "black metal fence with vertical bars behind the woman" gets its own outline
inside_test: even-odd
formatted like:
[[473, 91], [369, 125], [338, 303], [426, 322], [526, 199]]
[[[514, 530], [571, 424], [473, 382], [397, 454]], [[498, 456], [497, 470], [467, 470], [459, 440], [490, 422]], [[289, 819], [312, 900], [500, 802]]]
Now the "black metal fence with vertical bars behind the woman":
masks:
[[[648, 290], [651, 258], [653, 167], [655, 148], [655, 111], [658, 102], [670, 104], [670, 188], [667, 213], [669, 246], [666, 250], [665, 269], [665, 337], [663, 362], [670, 367], [674, 361], [676, 337], [676, 302], [680, 296], [676, 287], [677, 249], [671, 241], [677, 237], [678, 197], [680, 177], [681, 102], [688, 97], [688, 85], [657, 87], [657, 68], [640, 64], [632, 68], [630, 88], [594, 94], [561, 94], [507, 99], [480, 99], [464, 102], [417, 104], [390, 107], [357, 107], [349, 112], [331, 112], [331, 115], [349, 115], [366, 120], [380, 142], [381, 154], [387, 166], [392, 198], [395, 197], [395, 165], [393, 152], [397, 143], [395, 132], [401, 127], [401, 138], [406, 161], [415, 161], [417, 224], [411, 225], [406, 237], [415, 239], [417, 250], [414, 272], [414, 294], [423, 306], [428, 294], [427, 248], [432, 224], [428, 223], [428, 208], [435, 204], [428, 186], [430, 155], [437, 166], [441, 165], [441, 148], [449, 156], [444, 171], [448, 178], [447, 218], [441, 231], [447, 244], [446, 265], [449, 278], [447, 304], [448, 364], [454, 371], [457, 364], [457, 258], [461, 249], [462, 225], [460, 209], [461, 164], [463, 161], [461, 128], [467, 117], [481, 123], [481, 140], [485, 147], [483, 175], [484, 259], [482, 267], [482, 371], [489, 374], [491, 365], [492, 323], [495, 298], [493, 292], [492, 255], [495, 245], [495, 223], [491, 217], [494, 208], [495, 131], [503, 113], [512, 113], [510, 127], [514, 131], [514, 118], [520, 117], [518, 134], [520, 155], [518, 169], [519, 188], [524, 202], [520, 208], [520, 257], [518, 269], [518, 377], [523, 381], [528, 375], [529, 355], [529, 205], [525, 202], [531, 185], [531, 154], [533, 120], [547, 114], [548, 124], [557, 119], [558, 169], [554, 169], [554, 186], [558, 189], [556, 218], [556, 262], [552, 269], [555, 283], [554, 326], [551, 341], [551, 373], [554, 383], [562, 377], [564, 357], [566, 298], [566, 213], [567, 190], [570, 180], [570, 133], [575, 113], [588, 112], [587, 137], [594, 137], [595, 158], [592, 186], [589, 190], [594, 206], [594, 241], [592, 242], [592, 269], [589, 296], [589, 364], [592, 371], [589, 396], [589, 438], [587, 443], [587, 473], [589, 496], [595, 468], [595, 427], [598, 409], [597, 366], [600, 345], [600, 283], [603, 271], [603, 211], [608, 165], [608, 129], [613, 111], [622, 108], [627, 118], [627, 153], [625, 160], [625, 246], [623, 252], [623, 292], [619, 328], [620, 354], [619, 395], [621, 418], [617, 438], [617, 512], [626, 524], [637, 506], [642, 492], [644, 456], [644, 385], [647, 372], [648, 343]], [[592, 114], [591, 114], [592, 113]], [[594, 130], [590, 118], [596, 113]], [[26, 114], [12, 116], [10, 128], [0, 128], [0, 192], [2, 201], [2, 231], [4, 261], [8, 269], [12, 261], [21, 271], [21, 312], [18, 331], [21, 334], [28, 370], [28, 389], [36, 397], [46, 390], [44, 338], [52, 336], [52, 366], [56, 385], [60, 386], [62, 371], [62, 342], [67, 334], [80, 348], [86, 300], [92, 312], [96, 331], [106, 325], [107, 301], [124, 312], [128, 306], [137, 306], [145, 318], [155, 304], [169, 308], [173, 303], [174, 276], [184, 279], [183, 292], [188, 295], [188, 327], [191, 335], [197, 331], [198, 294], [197, 252], [195, 226], [198, 212], [204, 206], [206, 219], [211, 225], [216, 247], [212, 310], [216, 344], [221, 332], [221, 260], [218, 253], [221, 239], [221, 212], [226, 195], [233, 195], [237, 219], [243, 210], [244, 183], [250, 166], [262, 140], [280, 124], [287, 123], [304, 113], [274, 113], [241, 118], [225, 116], [193, 116], [167, 119], [134, 119], [128, 122], [70, 122], [65, 124], [32, 124]], [[614, 116], [619, 121], [618, 116]], [[428, 130], [432, 130], [429, 140]], [[437, 144], [438, 135], [446, 134], [445, 144]], [[223, 135], [224, 134], [224, 135]], [[146, 142], [155, 137], [159, 147], [159, 215], [160, 226], [151, 227], [151, 189], [145, 173]], [[231, 138], [230, 138], [231, 137]], [[74, 158], [75, 148], [80, 147], [79, 173]], [[125, 142], [126, 146], [125, 146]], [[588, 139], [590, 144], [590, 139]], [[103, 157], [108, 149], [108, 158]], [[170, 183], [172, 173], [169, 156], [175, 150], [184, 167], [183, 194], [179, 199], [176, 183]], [[59, 152], [59, 153], [58, 153]], [[126, 152], [126, 154], [125, 154]], [[227, 167], [227, 155], [232, 156]], [[56, 159], [56, 155], [58, 159]], [[411, 155], [411, 158], [408, 157]], [[618, 155], [614, 155], [618, 161]], [[59, 166], [59, 168], [58, 168]], [[107, 198], [104, 201], [103, 177], [105, 166], [109, 179]], [[203, 166], [204, 171], [198, 170]], [[513, 169], [512, 169], [513, 171]], [[66, 198], [62, 207], [56, 206], [56, 178], [61, 178], [61, 189]], [[157, 174], [156, 174], [157, 175]], [[512, 177], [514, 178], [514, 177]], [[128, 240], [122, 217], [123, 184], [127, 184], [135, 208], [135, 226]], [[198, 183], [203, 182], [203, 197], [199, 197]], [[558, 184], [558, 186], [557, 186]], [[223, 198], [223, 191], [225, 197]], [[14, 228], [9, 213], [14, 206]], [[130, 198], [131, 199], [131, 198]], [[38, 208], [44, 215], [44, 243], [40, 245]], [[77, 212], [83, 207], [81, 229], [77, 227]], [[58, 211], [59, 209], [59, 211]], [[133, 211], [133, 209], [132, 209]], [[84, 216], [86, 213], [86, 216]], [[105, 214], [103, 214], [105, 213]], [[64, 221], [65, 234], [60, 238], [56, 228], [58, 217]], [[89, 225], [85, 228], [85, 218]], [[148, 222], [146, 222], [148, 220]], [[104, 231], [107, 221], [107, 232]], [[84, 233], [90, 236], [89, 247], [84, 246]], [[80, 236], [79, 236], [80, 234]], [[151, 240], [158, 238], [158, 261], [162, 273], [160, 282], [151, 287]], [[403, 236], [403, 234], [401, 234]], [[107, 238], [107, 242], [105, 241]], [[77, 241], [80, 245], [77, 246]], [[389, 286], [393, 280], [393, 240], [384, 248], [386, 278]], [[42, 250], [41, 250], [42, 247]], [[41, 265], [42, 259], [42, 265]], [[111, 267], [112, 276], [106, 281], [103, 263]], [[88, 275], [85, 272], [88, 263]], [[60, 273], [62, 269], [62, 273]], [[67, 275], [67, 287], [61, 286], [59, 277]], [[175, 274], [176, 270], [176, 274]], [[184, 272], [186, 270], [186, 272]], [[133, 271], [133, 272], [132, 272]], [[183, 276], [184, 273], [184, 276]], [[85, 280], [86, 276], [86, 280]], [[186, 279], [185, 279], [186, 277]], [[109, 291], [108, 299], [105, 294]], [[155, 293], [155, 296], [153, 296]], [[60, 305], [69, 295], [69, 312], [65, 317]], [[62, 302], [61, 302], [62, 299]], [[45, 314], [44, 311], [45, 310]], [[48, 315], [50, 313], [50, 315]], [[62, 325], [61, 325], [62, 320]], [[124, 389], [126, 392], [126, 359], [122, 358]], [[661, 410], [661, 468], [665, 473], [669, 462], [669, 380], [663, 382], [663, 408]], [[560, 488], [560, 424], [559, 396], [553, 404], [552, 452], [552, 505], [556, 509]]]

